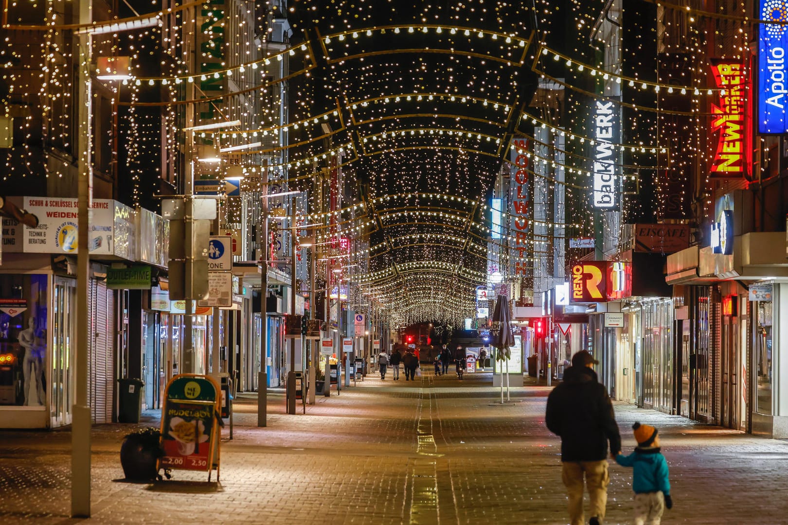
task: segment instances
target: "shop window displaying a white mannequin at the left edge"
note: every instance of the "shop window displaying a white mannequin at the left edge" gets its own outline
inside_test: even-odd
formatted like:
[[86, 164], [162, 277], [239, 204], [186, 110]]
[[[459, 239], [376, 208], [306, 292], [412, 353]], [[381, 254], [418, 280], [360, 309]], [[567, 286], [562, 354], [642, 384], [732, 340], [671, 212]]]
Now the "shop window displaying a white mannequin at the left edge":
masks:
[[46, 405], [48, 279], [0, 274], [0, 405]]

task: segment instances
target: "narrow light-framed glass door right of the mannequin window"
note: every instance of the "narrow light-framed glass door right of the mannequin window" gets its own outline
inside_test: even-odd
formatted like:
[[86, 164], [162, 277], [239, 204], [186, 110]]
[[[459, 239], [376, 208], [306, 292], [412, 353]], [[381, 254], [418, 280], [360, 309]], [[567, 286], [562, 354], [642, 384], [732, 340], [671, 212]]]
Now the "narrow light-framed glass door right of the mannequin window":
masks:
[[76, 342], [76, 281], [54, 278], [52, 335], [52, 379], [50, 423], [62, 427], [71, 423], [73, 405], [72, 366]]

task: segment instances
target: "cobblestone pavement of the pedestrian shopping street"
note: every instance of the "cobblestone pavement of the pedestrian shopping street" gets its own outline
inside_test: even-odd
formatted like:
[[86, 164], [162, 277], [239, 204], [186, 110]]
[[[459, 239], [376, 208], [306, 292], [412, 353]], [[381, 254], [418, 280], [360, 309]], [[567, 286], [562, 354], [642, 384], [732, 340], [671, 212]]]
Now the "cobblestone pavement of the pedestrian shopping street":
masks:
[[[544, 426], [549, 388], [512, 389], [491, 375], [406, 382], [370, 375], [288, 416], [269, 394], [236, 403], [221, 482], [175, 471], [123, 480], [118, 450], [135, 425], [93, 432], [91, 523], [567, 523], [559, 441]], [[299, 412], [301, 406], [299, 405]], [[617, 404], [624, 449], [635, 420], [660, 428], [675, 506], [663, 523], [786, 523], [788, 443]], [[146, 412], [154, 423], [154, 412]], [[80, 523], [69, 516], [69, 431], [0, 431], [0, 523]], [[215, 475], [214, 475], [215, 479]], [[631, 471], [611, 466], [608, 519], [631, 523]]]

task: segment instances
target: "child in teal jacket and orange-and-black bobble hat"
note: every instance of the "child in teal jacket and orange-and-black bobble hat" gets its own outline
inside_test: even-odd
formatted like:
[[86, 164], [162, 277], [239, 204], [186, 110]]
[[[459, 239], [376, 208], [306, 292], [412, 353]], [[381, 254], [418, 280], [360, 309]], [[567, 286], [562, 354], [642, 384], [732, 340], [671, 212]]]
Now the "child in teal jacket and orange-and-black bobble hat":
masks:
[[660, 453], [660, 436], [656, 428], [635, 423], [632, 429], [637, 448], [629, 456], [619, 453], [615, 462], [622, 467], [633, 468], [635, 525], [660, 525], [665, 508], [673, 507], [667, 460]]

